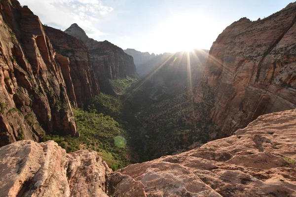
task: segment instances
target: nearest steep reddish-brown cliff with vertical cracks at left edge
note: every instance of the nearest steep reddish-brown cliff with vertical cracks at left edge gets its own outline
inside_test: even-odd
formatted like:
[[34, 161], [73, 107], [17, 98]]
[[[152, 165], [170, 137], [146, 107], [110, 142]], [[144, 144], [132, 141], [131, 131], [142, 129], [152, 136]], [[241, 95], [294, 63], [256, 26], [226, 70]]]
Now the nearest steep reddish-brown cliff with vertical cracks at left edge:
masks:
[[38, 17], [0, 1], [0, 146], [45, 134], [76, 135], [62, 68]]

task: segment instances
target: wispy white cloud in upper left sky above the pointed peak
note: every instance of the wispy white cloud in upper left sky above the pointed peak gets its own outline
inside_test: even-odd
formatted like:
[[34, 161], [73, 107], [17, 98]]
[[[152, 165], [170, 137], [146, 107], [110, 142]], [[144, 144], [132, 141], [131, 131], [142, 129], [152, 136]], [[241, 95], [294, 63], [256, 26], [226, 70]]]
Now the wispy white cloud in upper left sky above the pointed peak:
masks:
[[113, 10], [100, 0], [19, 0], [39, 16], [43, 24], [62, 30], [77, 23], [89, 37], [110, 35], [95, 27], [103, 17]]

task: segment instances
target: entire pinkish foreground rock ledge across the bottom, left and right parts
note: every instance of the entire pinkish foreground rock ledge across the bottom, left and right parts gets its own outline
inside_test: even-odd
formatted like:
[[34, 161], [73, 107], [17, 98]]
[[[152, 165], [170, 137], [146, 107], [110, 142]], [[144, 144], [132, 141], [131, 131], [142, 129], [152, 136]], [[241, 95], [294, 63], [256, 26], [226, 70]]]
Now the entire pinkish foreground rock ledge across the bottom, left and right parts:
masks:
[[296, 110], [233, 136], [116, 172], [53, 141], [0, 148], [0, 197], [296, 197]]

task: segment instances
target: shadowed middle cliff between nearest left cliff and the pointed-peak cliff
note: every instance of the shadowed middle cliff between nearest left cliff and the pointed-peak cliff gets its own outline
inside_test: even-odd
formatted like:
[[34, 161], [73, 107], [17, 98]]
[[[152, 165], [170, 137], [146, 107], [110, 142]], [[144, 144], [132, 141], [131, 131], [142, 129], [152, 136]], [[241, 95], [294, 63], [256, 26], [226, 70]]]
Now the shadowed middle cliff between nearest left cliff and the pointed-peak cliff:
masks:
[[58, 53], [56, 60], [61, 66], [69, 98], [74, 106], [82, 107], [100, 93], [89, 50], [81, 40], [67, 33], [51, 27], [43, 28]]

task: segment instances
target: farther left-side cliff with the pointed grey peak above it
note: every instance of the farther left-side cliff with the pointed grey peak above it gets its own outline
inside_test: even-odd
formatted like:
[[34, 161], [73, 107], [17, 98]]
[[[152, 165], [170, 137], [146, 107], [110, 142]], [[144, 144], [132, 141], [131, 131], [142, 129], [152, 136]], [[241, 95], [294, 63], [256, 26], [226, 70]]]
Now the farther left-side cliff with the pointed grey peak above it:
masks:
[[77, 24], [71, 25], [65, 33], [81, 39], [89, 48], [92, 67], [99, 79], [102, 92], [110, 93], [109, 79], [124, 78], [136, 74], [133, 57], [107, 40], [100, 42], [88, 38]]

